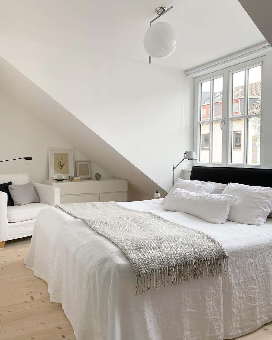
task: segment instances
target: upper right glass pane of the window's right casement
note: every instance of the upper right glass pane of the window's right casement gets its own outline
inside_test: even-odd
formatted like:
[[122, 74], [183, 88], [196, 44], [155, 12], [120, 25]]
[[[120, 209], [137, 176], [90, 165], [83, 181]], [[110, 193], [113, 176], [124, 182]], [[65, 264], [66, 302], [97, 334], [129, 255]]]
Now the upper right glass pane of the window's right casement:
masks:
[[248, 114], [261, 113], [261, 66], [249, 69]]

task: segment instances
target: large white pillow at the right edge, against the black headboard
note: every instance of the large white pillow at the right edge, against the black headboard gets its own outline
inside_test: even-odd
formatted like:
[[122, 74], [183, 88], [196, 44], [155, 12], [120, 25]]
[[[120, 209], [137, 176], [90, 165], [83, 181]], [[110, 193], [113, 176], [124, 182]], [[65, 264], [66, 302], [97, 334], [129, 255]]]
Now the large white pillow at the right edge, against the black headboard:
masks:
[[272, 210], [272, 188], [229, 183], [223, 194], [238, 197], [229, 210], [229, 221], [262, 225]]

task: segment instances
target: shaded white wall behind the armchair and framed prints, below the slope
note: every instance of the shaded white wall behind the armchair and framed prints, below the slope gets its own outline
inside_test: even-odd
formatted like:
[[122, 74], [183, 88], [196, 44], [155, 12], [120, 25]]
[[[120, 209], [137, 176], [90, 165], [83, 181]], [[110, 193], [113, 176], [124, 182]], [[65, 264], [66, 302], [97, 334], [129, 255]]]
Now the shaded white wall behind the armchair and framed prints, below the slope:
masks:
[[[71, 148], [61, 137], [50, 131], [45, 125], [24, 112], [4, 94], [0, 93], [0, 160], [33, 156], [33, 160], [23, 159], [0, 163], [0, 173], [28, 173], [31, 181], [42, 183], [48, 179], [48, 148]], [[88, 160], [74, 149], [75, 160]], [[91, 163], [91, 175], [99, 172], [101, 176], [110, 176], [95, 163]]]

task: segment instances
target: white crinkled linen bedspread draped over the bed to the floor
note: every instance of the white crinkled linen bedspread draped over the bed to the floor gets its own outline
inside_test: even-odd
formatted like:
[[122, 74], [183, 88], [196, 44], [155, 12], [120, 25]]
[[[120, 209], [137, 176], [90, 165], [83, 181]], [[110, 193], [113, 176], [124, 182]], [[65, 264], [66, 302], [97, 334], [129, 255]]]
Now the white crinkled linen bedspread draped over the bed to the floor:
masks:
[[36, 220], [28, 268], [48, 283], [77, 340], [222, 340], [272, 320], [272, 219], [262, 226], [211, 224], [162, 210], [162, 200], [120, 203], [152, 211], [221, 242], [229, 274], [135, 296], [132, 267], [111, 241], [61, 210]]

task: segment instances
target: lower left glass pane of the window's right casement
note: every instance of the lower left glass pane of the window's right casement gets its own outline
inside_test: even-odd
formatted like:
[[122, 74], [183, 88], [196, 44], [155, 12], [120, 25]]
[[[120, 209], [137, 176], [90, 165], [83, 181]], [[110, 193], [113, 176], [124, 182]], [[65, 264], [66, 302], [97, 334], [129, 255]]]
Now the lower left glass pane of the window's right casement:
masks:
[[244, 163], [244, 120], [232, 121], [232, 163]]

